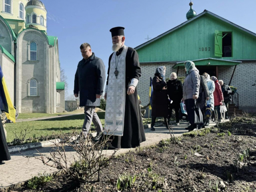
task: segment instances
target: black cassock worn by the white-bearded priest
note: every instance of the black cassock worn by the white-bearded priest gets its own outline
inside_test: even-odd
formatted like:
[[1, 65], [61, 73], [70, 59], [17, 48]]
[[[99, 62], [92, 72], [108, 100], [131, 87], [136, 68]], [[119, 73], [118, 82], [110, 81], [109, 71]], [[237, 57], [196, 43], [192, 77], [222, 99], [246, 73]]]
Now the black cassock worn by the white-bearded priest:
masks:
[[[123, 47], [116, 52], [120, 55]], [[110, 62], [113, 53], [108, 61], [108, 75], [110, 69]], [[141, 76], [139, 57], [135, 49], [128, 47], [125, 57], [125, 92], [127, 93], [128, 85], [131, 84], [131, 79], [138, 79]], [[108, 85], [108, 79], [107, 79]], [[113, 136], [111, 145], [115, 148], [134, 148], [140, 146], [140, 143], [146, 140], [143, 120], [140, 112], [140, 105], [138, 101], [137, 88], [134, 94], [125, 96], [125, 122], [123, 136]]]

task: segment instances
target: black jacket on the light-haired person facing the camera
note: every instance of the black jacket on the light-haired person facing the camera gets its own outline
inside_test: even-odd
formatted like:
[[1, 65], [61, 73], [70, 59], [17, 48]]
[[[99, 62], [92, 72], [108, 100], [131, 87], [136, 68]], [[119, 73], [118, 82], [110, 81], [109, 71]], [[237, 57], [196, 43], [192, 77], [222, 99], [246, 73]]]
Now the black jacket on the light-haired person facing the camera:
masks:
[[172, 105], [179, 106], [183, 97], [183, 86], [180, 80], [174, 79], [167, 81], [167, 93], [173, 101]]

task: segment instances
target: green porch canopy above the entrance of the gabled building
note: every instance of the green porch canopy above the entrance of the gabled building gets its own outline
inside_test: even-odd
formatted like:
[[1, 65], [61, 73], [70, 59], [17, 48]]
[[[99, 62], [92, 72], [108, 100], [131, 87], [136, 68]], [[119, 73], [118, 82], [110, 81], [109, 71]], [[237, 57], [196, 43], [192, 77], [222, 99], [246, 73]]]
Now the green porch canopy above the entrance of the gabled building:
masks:
[[[232, 61], [232, 60], [225, 60], [225, 59], [217, 59], [217, 58], [203, 58], [192, 60], [196, 66], [234, 66], [240, 64], [242, 61]], [[177, 62], [172, 68], [177, 68], [179, 66], [184, 67], [185, 61]]]

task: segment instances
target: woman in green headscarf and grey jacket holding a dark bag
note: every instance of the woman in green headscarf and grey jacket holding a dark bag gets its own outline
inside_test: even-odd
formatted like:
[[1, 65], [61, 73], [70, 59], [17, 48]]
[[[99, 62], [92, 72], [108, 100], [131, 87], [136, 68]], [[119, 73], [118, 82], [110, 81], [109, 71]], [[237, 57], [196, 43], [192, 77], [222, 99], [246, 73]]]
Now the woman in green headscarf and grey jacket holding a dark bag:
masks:
[[186, 70], [186, 79], [183, 84], [183, 99], [186, 105], [186, 111], [189, 118], [189, 131], [198, 130], [198, 125], [195, 124], [195, 114], [193, 108], [195, 107], [196, 99], [199, 96], [200, 75], [195, 63], [186, 61], [184, 63]]

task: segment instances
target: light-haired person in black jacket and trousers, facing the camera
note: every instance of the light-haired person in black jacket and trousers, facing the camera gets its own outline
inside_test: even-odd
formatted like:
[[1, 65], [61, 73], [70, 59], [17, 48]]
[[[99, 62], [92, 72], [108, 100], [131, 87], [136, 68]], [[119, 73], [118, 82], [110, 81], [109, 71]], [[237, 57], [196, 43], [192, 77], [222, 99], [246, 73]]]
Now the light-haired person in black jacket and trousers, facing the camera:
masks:
[[183, 97], [183, 86], [180, 80], [177, 79], [176, 73], [171, 73], [169, 81], [167, 81], [167, 93], [172, 103], [169, 105], [169, 120], [172, 117], [172, 109], [175, 110], [176, 125], [180, 125], [180, 101]]

